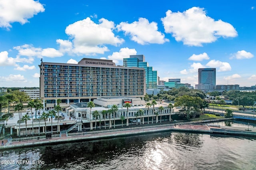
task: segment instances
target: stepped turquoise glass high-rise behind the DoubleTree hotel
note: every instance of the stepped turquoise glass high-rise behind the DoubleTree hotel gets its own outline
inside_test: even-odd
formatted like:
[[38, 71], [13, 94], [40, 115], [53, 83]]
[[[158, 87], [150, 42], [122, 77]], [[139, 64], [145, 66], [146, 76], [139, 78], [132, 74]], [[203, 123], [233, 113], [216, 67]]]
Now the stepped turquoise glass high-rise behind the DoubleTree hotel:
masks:
[[130, 58], [124, 58], [125, 67], [139, 67], [145, 69], [146, 88], [157, 88], [157, 71], [148, 66], [144, 55], [130, 55]]

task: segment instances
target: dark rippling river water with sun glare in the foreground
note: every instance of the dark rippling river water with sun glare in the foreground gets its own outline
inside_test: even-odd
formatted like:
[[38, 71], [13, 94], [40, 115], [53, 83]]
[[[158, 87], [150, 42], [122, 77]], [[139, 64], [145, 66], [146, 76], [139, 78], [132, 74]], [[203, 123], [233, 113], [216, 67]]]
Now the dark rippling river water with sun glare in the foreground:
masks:
[[1, 151], [0, 169], [255, 170], [255, 158], [256, 138], [169, 131]]

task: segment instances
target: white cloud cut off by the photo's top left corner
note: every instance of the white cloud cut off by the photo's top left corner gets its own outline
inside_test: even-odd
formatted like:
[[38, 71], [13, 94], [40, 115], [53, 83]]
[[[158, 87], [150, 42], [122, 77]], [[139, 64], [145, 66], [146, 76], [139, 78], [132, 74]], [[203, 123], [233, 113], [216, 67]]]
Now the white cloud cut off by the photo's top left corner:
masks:
[[9, 30], [13, 22], [19, 22], [23, 25], [39, 12], [44, 12], [44, 7], [39, 1], [0, 0], [0, 27]]

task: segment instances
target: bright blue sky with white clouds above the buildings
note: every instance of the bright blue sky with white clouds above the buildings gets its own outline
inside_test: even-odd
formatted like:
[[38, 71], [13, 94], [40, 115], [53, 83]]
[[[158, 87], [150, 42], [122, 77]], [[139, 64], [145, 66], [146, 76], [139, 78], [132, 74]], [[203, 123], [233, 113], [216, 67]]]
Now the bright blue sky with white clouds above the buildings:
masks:
[[39, 87], [40, 60], [144, 55], [160, 80], [256, 84], [255, 0], [0, 0], [0, 87]]

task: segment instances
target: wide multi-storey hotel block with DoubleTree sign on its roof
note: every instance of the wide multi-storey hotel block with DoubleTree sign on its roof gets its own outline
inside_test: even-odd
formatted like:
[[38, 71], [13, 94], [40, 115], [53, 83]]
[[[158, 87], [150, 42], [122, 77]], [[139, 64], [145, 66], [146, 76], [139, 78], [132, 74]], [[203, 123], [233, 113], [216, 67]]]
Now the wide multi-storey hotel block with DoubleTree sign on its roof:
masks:
[[141, 97], [146, 94], [145, 70], [116, 66], [112, 60], [84, 58], [78, 64], [41, 61], [40, 98], [51, 109], [57, 99], [62, 107], [97, 97]]

